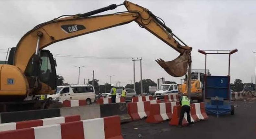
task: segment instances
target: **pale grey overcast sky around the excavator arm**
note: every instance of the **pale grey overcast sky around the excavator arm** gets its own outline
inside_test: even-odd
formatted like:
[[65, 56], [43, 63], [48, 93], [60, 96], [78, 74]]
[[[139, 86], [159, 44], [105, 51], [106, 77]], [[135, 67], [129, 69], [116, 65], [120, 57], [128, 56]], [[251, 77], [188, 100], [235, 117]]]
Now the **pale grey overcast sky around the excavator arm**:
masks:
[[[99, 9], [122, 0], [0, 0], [0, 60], [5, 60], [2, 49], [15, 47], [19, 39], [34, 26], [61, 15], [74, 15]], [[238, 49], [231, 55], [231, 81], [236, 78], [243, 82], [255, 82], [256, 51], [256, 1], [249, 0], [133, 0], [161, 17], [166, 25], [192, 50], [192, 69], [204, 69], [204, 55], [198, 49]], [[124, 6], [101, 14], [126, 11]], [[53, 55], [102, 56], [102, 57], [142, 57], [143, 79], [165, 77], [180, 83], [181, 78], [169, 76], [154, 59], [173, 60], [179, 53], [160, 39], [141, 28], [135, 22], [106, 29], [84, 36], [64, 40], [48, 46]], [[99, 83], [110, 82], [121, 85], [133, 80], [131, 59], [81, 59], [55, 57], [57, 74], [65, 82], [76, 84], [78, 68], [80, 83], [84, 78], [95, 78]], [[210, 55], [207, 69], [212, 75], [228, 74], [228, 55]], [[139, 61], [135, 64], [136, 81], [140, 80]]]

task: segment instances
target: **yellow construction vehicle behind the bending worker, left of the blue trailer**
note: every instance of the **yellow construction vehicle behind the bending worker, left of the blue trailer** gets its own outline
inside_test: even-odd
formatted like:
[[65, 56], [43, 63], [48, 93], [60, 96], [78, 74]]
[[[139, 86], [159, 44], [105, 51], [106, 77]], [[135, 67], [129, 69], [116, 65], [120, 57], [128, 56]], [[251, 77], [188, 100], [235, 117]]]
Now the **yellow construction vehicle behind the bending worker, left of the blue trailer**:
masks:
[[[206, 70], [206, 75], [210, 76], [210, 71]], [[197, 100], [198, 102], [203, 102], [203, 91], [204, 91], [204, 76], [205, 70], [192, 69], [191, 72], [191, 100]], [[187, 77], [185, 75], [184, 83], [179, 86], [179, 96], [182, 93], [187, 92]]]

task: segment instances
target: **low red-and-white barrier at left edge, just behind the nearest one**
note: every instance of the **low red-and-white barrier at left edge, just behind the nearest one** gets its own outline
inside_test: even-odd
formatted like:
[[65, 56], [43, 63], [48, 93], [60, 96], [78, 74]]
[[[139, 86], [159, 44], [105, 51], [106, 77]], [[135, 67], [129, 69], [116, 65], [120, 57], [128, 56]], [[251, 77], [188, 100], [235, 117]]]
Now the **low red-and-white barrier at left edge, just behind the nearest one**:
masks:
[[29, 127], [44, 126], [57, 123], [68, 123], [74, 121], [80, 121], [80, 115], [64, 116], [64, 117], [52, 117], [38, 120], [21, 121], [15, 123], [1, 123], [0, 131], [17, 130]]

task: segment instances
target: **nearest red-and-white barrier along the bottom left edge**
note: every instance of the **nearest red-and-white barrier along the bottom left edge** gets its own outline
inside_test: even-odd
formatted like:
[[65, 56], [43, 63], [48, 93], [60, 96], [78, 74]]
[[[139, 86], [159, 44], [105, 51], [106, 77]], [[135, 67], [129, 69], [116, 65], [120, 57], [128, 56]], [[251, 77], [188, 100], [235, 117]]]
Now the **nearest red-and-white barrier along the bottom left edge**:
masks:
[[119, 116], [0, 132], [1, 139], [123, 139]]

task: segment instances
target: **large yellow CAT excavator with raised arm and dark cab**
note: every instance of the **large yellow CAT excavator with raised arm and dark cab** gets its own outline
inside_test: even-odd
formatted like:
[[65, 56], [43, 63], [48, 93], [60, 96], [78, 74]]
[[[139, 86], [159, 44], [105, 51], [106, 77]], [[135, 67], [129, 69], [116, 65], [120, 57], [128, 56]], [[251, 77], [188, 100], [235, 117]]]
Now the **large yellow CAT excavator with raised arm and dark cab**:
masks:
[[[127, 11], [93, 16], [121, 5], [124, 5]], [[164, 21], [151, 11], [124, 1], [120, 5], [112, 4], [84, 14], [59, 16], [28, 31], [17, 46], [11, 48], [7, 64], [0, 64], [0, 102], [23, 100], [29, 95], [55, 93], [56, 61], [50, 51], [43, 48], [58, 41], [132, 21], [180, 53], [180, 56], [172, 61], [156, 61], [171, 76], [185, 75], [191, 63], [192, 48], [182, 42]]]

